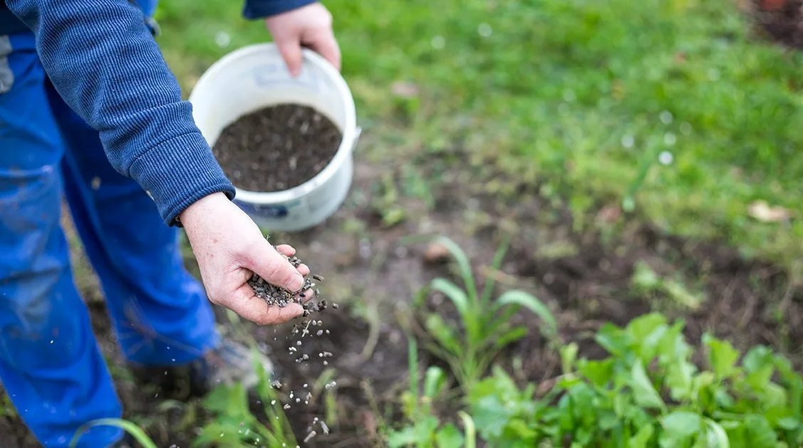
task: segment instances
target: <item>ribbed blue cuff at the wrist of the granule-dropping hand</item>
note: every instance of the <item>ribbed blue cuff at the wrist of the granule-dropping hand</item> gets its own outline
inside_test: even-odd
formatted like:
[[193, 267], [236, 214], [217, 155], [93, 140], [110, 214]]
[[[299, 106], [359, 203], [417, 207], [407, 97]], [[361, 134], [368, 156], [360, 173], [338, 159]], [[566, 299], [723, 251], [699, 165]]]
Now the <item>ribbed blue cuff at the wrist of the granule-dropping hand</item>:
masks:
[[151, 148], [132, 163], [129, 174], [157, 204], [167, 225], [196, 200], [223, 192], [234, 198], [234, 186], [223, 174], [200, 132], [178, 135]]

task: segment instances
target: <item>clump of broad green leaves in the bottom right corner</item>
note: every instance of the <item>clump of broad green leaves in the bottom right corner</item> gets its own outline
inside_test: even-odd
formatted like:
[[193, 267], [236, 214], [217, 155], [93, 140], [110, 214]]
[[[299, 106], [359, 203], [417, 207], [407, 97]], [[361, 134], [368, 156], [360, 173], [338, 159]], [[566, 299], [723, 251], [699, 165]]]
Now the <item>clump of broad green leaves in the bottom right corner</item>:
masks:
[[605, 324], [596, 340], [609, 357], [576, 360], [576, 350], [562, 350], [567, 372], [538, 399], [534, 385], [520, 389], [496, 369], [469, 394], [479, 434], [492, 446], [803, 444], [803, 379], [785, 357], [764, 346], [741, 356], [705, 335], [699, 369], [682, 332], [683, 322], [658, 313], [625, 328]]

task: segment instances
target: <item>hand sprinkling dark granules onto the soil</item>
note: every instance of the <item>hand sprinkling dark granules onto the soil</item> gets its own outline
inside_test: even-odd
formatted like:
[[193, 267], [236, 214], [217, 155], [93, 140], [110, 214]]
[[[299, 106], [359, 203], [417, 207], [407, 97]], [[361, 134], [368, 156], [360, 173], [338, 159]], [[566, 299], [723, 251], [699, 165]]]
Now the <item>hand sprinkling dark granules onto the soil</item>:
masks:
[[[274, 248], [254, 221], [223, 193], [196, 201], [178, 219], [212, 303], [260, 325], [281, 324], [304, 313], [297, 303], [279, 308], [267, 306], [255, 296], [248, 285], [254, 272], [271, 285], [296, 292], [304, 285], [303, 276], [309, 274], [309, 268], [305, 264], [293, 267], [285, 256], [292, 256], [296, 250], [287, 244]], [[312, 293], [304, 295], [307, 300], [312, 297]]]

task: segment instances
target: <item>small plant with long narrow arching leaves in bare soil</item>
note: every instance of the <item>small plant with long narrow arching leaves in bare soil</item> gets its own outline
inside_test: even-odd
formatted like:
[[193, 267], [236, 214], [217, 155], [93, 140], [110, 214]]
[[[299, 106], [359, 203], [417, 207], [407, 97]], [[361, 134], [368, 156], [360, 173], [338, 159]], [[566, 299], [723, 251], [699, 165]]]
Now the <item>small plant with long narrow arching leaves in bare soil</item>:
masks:
[[[479, 291], [463, 249], [446, 237], [439, 237], [435, 241], [442, 244], [454, 258], [463, 287], [444, 278], [436, 278], [430, 284], [430, 289], [443, 293], [454, 304], [460, 328], [455, 328], [438, 313], [427, 313], [424, 326], [431, 341], [426, 348], [449, 364], [461, 385], [470, 388], [487, 372], [502, 349], [527, 335], [527, 328], [510, 323], [511, 317], [522, 308], [540, 317], [541, 333], [551, 344], [557, 343], [555, 317], [543, 302], [520, 290], [507, 291], [493, 300], [494, 279], [489, 277], [483, 290]], [[494, 255], [492, 268], [499, 268], [505, 252], [507, 244], [502, 244]], [[418, 306], [422, 306], [422, 301], [418, 301]]]

